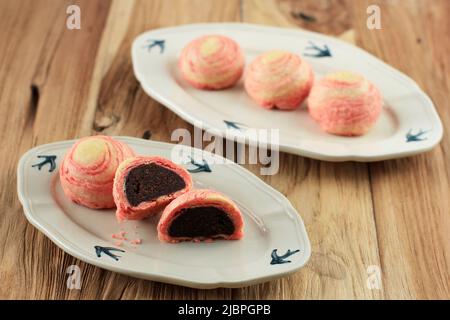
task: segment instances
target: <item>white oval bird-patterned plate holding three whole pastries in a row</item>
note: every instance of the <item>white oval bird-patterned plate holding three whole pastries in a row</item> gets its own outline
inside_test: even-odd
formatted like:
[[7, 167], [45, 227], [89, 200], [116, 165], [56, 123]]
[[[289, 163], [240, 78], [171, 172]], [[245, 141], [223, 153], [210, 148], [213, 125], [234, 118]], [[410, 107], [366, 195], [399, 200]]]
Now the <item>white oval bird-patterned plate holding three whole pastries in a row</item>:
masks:
[[[316, 79], [337, 70], [360, 73], [381, 90], [385, 108], [365, 136], [338, 137], [321, 131], [305, 106], [293, 112], [258, 107], [242, 79], [228, 90], [194, 89], [181, 78], [177, 60], [187, 43], [205, 34], [236, 40], [247, 64], [264, 51], [283, 49], [306, 59]], [[412, 79], [353, 45], [318, 33], [241, 23], [156, 29], [134, 40], [132, 59], [136, 78], [155, 100], [194, 125], [220, 136], [244, 136], [247, 143], [257, 142], [247, 134], [249, 128], [273, 128], [280, 130], [281, 151], [328, 161], [376, 161], [430, 150], [442, 138], [432, 101]]]

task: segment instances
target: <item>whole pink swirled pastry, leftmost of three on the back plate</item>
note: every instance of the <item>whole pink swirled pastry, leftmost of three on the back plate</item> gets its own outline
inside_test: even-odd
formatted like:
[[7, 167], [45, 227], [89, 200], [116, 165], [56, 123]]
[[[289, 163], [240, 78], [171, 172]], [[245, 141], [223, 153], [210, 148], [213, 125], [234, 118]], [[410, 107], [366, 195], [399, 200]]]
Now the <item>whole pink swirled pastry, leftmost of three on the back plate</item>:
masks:
[[209, 35], [190, 42], [178, 62], [181, 74], [199, 89], [224, 89], [242, 76], [244, 55], [232, 39]]

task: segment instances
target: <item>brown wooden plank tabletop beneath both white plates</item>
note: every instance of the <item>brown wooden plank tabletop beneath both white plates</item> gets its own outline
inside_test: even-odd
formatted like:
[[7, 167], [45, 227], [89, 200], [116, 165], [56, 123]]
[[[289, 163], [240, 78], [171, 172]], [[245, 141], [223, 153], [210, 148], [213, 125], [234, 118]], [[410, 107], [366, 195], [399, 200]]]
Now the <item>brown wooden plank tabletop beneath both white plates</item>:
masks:
[[[66, 8], [81, 8], [81, 30]], [[366, 26], [370, 4], [382, 29]], [[450, 1], [20, 0], [0, 1], [0, 298], [415, 299], [450, 298]], [[139, 33], [193, 22], [304, 28], [354, 42], [416, 80], [444, 124], [426, 154], [377, 163], [280, 156], [262, 178], [301, 212], [312, 244], [292, 276], [242, 289], [195, 290], [102, 270], [65, 254], [23, 215], [16, 166], [29, 148], [87, 136], [170, 142], [192, 126], [148, 97], [133, 76]], [[258, 166], [246, 166], [258, 173]], [[81, 290], [66, 268], [81, 269]], [[370, 267], [375, 266], [375, 267]], [[377, 267], [382, 287], [369, 289]], [[371, 269], [375, 268], [375, 269]]]

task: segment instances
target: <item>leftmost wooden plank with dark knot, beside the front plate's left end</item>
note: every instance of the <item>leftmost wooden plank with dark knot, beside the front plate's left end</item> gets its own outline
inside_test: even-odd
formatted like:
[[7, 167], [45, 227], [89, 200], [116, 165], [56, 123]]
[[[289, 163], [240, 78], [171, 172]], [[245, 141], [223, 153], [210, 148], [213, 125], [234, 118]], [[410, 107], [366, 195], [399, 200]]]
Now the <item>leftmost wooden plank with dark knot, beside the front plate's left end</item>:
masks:
[[[62, 298], [64, 254], [23, 216], [16, 197], [16, 164], [30, 147], [76, 136], [109, 1], [77, 2], [82, 29], [66, 28], [69, 1], [0, 3], [0, 276], [2, 298]], [[17, 133], [17, 134], [16, 134]]]

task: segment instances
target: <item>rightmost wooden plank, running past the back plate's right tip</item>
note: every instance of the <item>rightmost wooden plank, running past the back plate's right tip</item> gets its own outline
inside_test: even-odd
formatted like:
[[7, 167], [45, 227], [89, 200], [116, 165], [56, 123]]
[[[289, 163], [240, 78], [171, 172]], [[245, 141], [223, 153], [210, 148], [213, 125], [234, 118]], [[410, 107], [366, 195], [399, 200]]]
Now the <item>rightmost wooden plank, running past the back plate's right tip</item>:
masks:
[[[449, 1], [360, 1], [381, 8], [382, 29], [357, 16], [358, 42], [411, 76], [436, 104], [444, 140], [423, 155], [370, 165], [383, 284], [390, 299], [450, 295]], [[407, 30], [407, 31], [406, 31]]]

